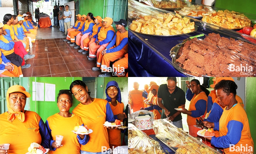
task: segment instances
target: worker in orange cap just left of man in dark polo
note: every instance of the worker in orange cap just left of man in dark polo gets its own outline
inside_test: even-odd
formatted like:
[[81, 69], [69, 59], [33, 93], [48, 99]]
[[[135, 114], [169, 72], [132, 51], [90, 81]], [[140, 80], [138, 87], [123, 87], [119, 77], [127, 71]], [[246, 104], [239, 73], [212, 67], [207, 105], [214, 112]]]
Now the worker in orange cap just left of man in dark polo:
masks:
[[148, 103], [150, 106], [149, 107], [141, 107], [140, 110], [153, 110], [153, 114], [154, 114], [154, 119], [161, 119], [161, 114], [162, 114], [162, 108], [158, 106], [157, 104], [157, 92], [158, 92], [158, 85], [151, 85], [149, 87], [149, 91], [151, 91], [151, 93], [154, 95], [152, 100], [149, 100], [150, 102]]

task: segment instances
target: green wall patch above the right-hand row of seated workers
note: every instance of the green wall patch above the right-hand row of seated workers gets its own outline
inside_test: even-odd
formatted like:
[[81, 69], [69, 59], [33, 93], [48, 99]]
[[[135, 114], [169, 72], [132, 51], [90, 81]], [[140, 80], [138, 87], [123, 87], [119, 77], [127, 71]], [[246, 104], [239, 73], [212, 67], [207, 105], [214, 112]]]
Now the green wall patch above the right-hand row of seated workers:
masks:
[[93, 16], [103, 17], [104, 0], [80, 0], [79, 14], [87, 15], [91, 12]]

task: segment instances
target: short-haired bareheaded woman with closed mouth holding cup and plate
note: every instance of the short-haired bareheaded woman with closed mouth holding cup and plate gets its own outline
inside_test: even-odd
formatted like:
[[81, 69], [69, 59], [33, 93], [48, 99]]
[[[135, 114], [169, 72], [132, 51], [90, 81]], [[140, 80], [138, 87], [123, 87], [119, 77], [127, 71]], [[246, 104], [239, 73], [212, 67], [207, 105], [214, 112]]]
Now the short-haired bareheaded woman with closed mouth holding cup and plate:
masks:
[[[69, 112], [72, 105], [72, 93], [69, 90], [60, 90], [57, 96], [60, 112], [48, 117], [45, 122], [51, 137], [49, 154], [80, 154], [80, 144], [85, 145], [89, 141], [88, 135], [76, 135], [72, 132], [75, 126], [84, 125], [79, 116]], [[57, 145], [56, 135], [63, 136], [61, 145]]]

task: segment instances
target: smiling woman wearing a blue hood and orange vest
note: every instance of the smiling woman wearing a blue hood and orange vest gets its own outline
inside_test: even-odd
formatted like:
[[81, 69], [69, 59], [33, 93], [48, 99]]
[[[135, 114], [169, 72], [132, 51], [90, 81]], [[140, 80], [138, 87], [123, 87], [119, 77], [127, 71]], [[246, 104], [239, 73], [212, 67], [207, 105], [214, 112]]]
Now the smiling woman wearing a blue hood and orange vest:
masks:
[[[105, 93], [107, 96], [106, 100], [113, 111], [115, 119], [122, 122], [126, 118], [126, 115], [124, 112], [124, 103], [121, 102], [121, 91], [118, 87], [118, 83], [116, 81], [109, 81], [107, 83]], [[113, 146], [114, 148], [121, 146], [121, 130], [108, 129], [108, 141], [111, 149]]]

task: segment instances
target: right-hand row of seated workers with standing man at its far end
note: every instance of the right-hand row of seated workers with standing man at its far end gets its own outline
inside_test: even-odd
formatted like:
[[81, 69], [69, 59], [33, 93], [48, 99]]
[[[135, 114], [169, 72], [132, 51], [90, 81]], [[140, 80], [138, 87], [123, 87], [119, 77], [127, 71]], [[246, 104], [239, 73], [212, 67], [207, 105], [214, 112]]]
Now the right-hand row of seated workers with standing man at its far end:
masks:
[[[72, 17], [68, 10], [68, 5], [64, 11], [64, 26], [67, 37], [63, 41], [70, 43], [71, 47], [80, 49], [78, 52], [89, 54], [89, 61], [96, 60], [95, 67], [92, 70], [102, 70], [104, 74], [99, 77], [128, 77], [125, 69], [128, 68], [128, 31], [125, 29], [127, 22], [124, 19], [114, 22], [116, 30], [113, 28], [113, 19], [100, 16], [76, 15], [76, 23], [73, 27], [68, 27]], [[68, 20], [68, 21], [65, 21]], [[63, 32], [63, 28], [60, 32]], [[110, 66], [110, 62], [115, 62]]]

